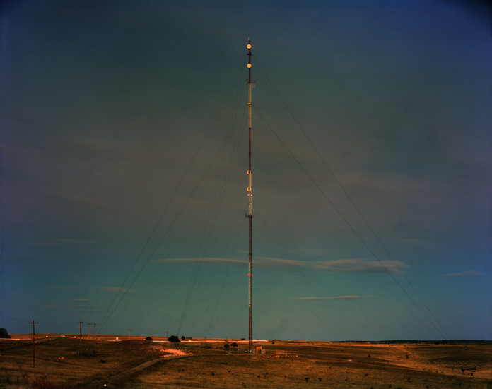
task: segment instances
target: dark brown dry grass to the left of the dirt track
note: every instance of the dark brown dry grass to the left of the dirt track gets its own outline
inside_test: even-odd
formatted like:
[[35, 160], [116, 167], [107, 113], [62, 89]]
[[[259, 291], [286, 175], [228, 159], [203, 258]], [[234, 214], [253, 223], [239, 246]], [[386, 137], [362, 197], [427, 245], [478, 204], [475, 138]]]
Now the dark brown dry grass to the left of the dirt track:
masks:
[[[78, 351], [95, 352], [78, 357]], [[145, 340], [83, 340], [54, 337], [36, 344], [28, 340], [0, 342], [0, 388], [8, 383], [28, 386], [44, 377], [53, 385], [76, 387], [116, 376], [163, 355], [163, 347]], [[42, 387], [42, 384], [38, 385]]]

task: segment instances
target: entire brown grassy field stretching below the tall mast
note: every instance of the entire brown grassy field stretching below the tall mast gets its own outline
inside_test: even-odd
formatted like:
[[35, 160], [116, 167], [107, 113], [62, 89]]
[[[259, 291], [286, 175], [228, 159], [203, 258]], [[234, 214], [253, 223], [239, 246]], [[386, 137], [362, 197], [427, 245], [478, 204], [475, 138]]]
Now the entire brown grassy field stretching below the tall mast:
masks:
[[272, 354], [245, 354], [211, 340], [45, 336], [35, 367], [32, 340], [0, 342], [0, 388], [492, 388], [492, 345], [275, 340], [261, 344]]

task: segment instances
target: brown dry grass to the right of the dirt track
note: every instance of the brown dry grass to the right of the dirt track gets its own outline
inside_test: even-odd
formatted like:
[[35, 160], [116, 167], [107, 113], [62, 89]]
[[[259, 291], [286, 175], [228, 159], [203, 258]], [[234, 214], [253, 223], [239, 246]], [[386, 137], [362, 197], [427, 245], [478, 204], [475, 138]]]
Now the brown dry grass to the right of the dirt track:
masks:
[[[447, 353], [450, 346], [276, 342], [264, 349], [274, 347], [279, 352], [276, 357], [230, 354], [220, 348], [204, 350], [194, 357], [155, 366], [136, 378], [131, 388], [487, 388], [492, 378], [491, 363], [476, 366], [471, 376], [472, 371], [453, 371], [437, 359], [431, 360], [435, 352], [438, 357], [453, 354], [460, 366], [469, 364], [462, 347]], [[491, 346], [476, 348], [482, 359], [490, 357]]]

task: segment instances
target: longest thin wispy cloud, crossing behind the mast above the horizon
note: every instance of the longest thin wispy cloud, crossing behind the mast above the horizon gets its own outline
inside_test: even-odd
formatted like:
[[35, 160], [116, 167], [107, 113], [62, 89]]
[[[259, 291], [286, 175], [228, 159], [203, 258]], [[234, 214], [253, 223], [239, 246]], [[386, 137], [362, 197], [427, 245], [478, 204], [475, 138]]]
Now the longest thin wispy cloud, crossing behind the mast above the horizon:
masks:
[[[228, 265], [233, 263], [243, 265], [247, 261], [230, 258], [165, 258], [156, 263], [190, 264], [198, 261]], [[336, 261], [293, 261], [291, 259], [259, 257], [253, 261], [254, 265], [266, 268], [303, 268], [322, 270], [332, 273], [401, 273], [401, 269], [409, 266], [402, 261], [367, 261], [364, 259], [340, 259]]]

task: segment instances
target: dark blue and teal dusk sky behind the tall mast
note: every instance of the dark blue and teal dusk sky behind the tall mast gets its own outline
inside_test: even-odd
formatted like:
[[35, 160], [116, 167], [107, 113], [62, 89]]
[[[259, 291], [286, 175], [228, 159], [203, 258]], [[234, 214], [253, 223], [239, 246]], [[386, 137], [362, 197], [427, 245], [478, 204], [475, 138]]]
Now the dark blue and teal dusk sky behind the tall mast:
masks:
[[250, 37], [253, 337], [491, 339], [491, 32], [484, 1], [3, 1], [0, 326], [247, 337]]

